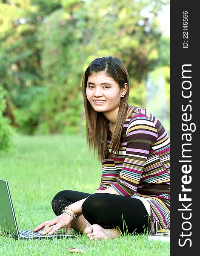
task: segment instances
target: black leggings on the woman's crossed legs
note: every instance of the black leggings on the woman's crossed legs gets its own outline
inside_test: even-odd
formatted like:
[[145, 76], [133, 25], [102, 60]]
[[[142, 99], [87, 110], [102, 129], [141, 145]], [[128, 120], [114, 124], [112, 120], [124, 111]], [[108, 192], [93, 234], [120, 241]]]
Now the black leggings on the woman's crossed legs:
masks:
[[51, 205], [55, 215], [62, 214], [67, 205], [87, 198], [82, 204], [82, 214], [92, 225], [110, 229], [118, 227], [123, 234], [145, 233], [149, 230], [149, 215], [143, 203], [121, 195], [63, 190], [54, 196]]

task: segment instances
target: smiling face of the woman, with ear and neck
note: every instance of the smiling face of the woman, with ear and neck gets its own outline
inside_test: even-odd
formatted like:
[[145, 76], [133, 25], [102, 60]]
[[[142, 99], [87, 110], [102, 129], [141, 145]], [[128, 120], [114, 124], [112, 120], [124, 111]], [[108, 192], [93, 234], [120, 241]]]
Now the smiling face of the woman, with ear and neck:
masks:
[[86, 96], [95, 111], [102, 112], [114, 122], [112, 119], [117, 119], [121, 97], [126, 90], [126, 83], [120, 89], [119, 84], [106, 73], [93, 73], [88, 77]]

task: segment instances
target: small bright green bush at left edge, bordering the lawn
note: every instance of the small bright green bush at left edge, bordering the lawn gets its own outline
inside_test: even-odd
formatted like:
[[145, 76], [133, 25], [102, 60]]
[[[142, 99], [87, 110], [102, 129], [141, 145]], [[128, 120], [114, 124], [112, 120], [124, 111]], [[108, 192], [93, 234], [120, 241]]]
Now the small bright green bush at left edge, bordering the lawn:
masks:
[[3, 116], [6, 109], [5, 101], [6, 91], [0, 85], [0, 151], [7, 151], [10, 147], [11, 128], [9, 119]]

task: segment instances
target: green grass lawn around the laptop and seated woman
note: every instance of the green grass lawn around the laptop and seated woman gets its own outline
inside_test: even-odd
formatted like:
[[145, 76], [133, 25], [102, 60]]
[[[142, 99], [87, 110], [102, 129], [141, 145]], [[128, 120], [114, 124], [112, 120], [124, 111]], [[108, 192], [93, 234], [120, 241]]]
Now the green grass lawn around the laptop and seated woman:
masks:
[[[54, 195], [63, 189], [94, 192], [99, 186], [101, 163], [88, 152], [79, 136], [14, 136], [12, 151], [0, 155], [0, 179], [9, 181], [11, 197], [21, 230], [33, 229], [55, 217]], [[73, 233], [73, 230], [72, 230]], [[0, 236], [0, 255], [70, 255], [69, 247], [86, 256], [169, 256], [170, 243], [148, 241], [147, 235], [121, 236], [90, 241], [76, 239], [15, 240]]]

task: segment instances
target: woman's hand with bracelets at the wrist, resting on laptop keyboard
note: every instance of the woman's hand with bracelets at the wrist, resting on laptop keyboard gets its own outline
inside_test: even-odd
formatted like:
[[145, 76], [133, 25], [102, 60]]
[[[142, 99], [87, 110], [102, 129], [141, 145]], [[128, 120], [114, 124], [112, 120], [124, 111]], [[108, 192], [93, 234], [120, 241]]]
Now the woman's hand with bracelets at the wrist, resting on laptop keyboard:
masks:
[[56, 230], [60, 230], [61, 228], [66, 228], [66, 232], [71, 234], [71, 224], [73, 218], [66, 213], [57, 216], [51, 221], [45, 221], [37, 226], [33, 231], [37, 232], [40, 230], [40, 234], [42, 235], [52, 235]]

